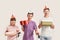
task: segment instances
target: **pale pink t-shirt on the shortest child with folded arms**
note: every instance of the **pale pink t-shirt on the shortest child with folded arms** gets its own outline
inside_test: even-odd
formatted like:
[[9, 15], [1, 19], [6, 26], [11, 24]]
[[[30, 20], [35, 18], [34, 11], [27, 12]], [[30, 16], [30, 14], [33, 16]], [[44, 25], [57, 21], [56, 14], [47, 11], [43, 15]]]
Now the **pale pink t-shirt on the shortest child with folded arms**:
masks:
[[[6, 31], [7, 32], [17, 32], [19, 30], [19, 28], [17, 26], [8, 26]], [[7, 36], [7, 40], [17, 40], [17, 35], [15, 36]]]

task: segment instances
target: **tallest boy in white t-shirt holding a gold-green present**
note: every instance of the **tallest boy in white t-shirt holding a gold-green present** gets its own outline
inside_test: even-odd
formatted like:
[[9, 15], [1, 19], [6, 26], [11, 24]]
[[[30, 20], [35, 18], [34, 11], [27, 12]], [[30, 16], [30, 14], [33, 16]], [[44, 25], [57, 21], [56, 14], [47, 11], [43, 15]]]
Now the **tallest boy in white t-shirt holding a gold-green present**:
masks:
[[44, 17], [41, 19], [38, 28], [41, 29], [41, 37], [40, 40], [51, 40], [50, 31], [54, 29], [53, 20], [49, 17], [50, 9], [45, 6], [43, 9]]

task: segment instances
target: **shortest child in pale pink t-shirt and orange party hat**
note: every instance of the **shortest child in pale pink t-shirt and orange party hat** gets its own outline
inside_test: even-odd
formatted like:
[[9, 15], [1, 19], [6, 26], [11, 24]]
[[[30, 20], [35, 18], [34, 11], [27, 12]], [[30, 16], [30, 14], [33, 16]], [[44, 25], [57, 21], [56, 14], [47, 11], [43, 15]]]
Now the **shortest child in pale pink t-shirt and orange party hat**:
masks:
[[10, 25], [7, 27], [5, 35], [7, 40], [17, 40], [17, 35], [19, 33], [19, 28], [15, 25], [16, 18], [12, 15], [10, 19]]

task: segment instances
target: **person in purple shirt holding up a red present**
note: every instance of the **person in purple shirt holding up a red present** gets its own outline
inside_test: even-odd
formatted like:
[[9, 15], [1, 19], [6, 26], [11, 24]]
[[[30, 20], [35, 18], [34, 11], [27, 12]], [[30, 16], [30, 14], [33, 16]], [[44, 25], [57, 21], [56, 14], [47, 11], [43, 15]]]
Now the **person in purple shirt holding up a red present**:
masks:
[[24, 31], [23, 40], [34, 40], [33, 32], [35, 30], [36, 34], [38, 34], [37, 26], [34, 21], [31, 19], [33, 18], [33, 13], [27, 14], [28, 20], [21, 22], [22, 23], [22, 30]]

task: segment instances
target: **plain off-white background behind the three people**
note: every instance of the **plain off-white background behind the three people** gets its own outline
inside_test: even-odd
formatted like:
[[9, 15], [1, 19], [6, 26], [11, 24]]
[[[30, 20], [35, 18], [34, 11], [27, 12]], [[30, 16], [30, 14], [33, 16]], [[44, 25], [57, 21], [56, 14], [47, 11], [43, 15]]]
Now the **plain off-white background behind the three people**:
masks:
[[[60, 0], [0, 0], [0, 40], [6, 40], [4, 32], [9, 25], [9, 19], [12, 14], [16, 17], [17, 25], [21, 30], [19, 21], [27, 19], [26, 14], [29, 11], [34, 12], [33, 19], [38, 25], [40, 18], [43, 17], [43, 8], [45, 5], [51, 9], [50, 16], [53, 17], [55, 22], [52, 40], [60, 40]], [[22, 36], [23, 34], [20, 40]], [[36, 38], [35, 36], [35, 40], [37, 40]]]

